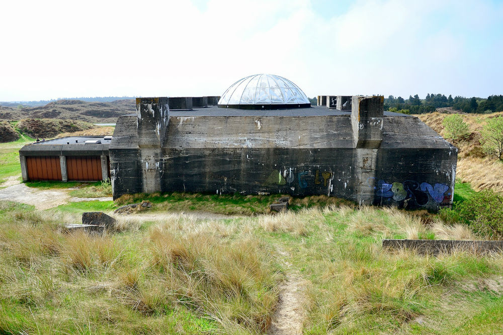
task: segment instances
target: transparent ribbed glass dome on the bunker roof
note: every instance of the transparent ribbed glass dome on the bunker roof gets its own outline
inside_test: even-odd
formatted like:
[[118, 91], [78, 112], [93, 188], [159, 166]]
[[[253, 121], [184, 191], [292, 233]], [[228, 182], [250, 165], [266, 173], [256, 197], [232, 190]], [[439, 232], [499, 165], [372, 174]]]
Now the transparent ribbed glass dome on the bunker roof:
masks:
[[299, 86], [274, 74], [254, 74], [233, 83], [218, 101], [219, 107], [279, 109], [309, 107]]

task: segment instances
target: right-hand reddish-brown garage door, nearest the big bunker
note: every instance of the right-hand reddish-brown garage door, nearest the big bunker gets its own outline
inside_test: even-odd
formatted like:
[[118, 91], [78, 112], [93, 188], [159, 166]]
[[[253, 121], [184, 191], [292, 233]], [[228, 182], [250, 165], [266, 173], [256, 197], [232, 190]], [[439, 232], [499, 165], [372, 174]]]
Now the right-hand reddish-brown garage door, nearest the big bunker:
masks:
[[100, 156], [66, 156], [68, 180], [102, 180]]

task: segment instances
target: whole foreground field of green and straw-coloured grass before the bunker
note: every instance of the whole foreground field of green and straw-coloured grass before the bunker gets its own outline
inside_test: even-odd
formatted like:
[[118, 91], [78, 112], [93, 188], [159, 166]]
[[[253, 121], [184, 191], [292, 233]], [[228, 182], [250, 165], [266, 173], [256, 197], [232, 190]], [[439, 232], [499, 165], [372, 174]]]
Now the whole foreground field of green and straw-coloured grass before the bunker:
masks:
[[225, 220], [133, 216], [120, 233], [65, 235], [61, 225], [79, 221], [72, 212], [89, 209], [76, 204], [0, 203], [0, 332], [263, 333], [288, 272], [305, 288], [304, 333], [500, 329], [500, 255], [381, 249], [383, 238], [475, 238], [425, 225], [421, 213], [332, 205]]

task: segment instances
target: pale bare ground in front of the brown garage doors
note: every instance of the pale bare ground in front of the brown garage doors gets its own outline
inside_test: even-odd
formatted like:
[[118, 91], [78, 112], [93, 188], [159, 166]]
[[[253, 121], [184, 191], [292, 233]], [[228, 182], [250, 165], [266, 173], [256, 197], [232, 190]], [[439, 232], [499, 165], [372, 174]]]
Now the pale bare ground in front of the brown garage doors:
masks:
[[48, 189], [41, 190], [35, 187], [28, 187], [18, 180], [19, 176], [9, 177], [0, 186], [8, 187], [0, 189], [0, 200], [9, 200], [34, 205], [36, 209], [48, 209], [76, 201], [111, 201], [112, 197], [101, 198], [77, 198], [68, 195], [68, 189]]

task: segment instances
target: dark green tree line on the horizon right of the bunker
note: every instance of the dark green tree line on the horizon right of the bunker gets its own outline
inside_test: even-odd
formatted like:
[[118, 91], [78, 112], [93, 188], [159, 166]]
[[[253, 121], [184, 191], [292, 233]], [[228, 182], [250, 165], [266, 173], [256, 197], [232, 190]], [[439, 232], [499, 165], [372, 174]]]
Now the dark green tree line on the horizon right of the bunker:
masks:
[[[503, 95], [490, 95], [487, 98], [428, 93], [425, 99], [421, 99], [417, 94], [409, 95], [408, 99], [401, 96], [388, 96], [384, 99], [384, 110], [406, 110], [410, 114], [430, 113], [439, 107], [453, 107], [464, 113], [493, 113], [503, 111]], [[396, 108], [396, 109], [395, 109]]]

